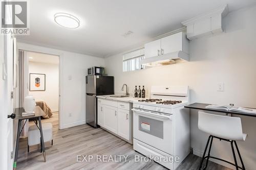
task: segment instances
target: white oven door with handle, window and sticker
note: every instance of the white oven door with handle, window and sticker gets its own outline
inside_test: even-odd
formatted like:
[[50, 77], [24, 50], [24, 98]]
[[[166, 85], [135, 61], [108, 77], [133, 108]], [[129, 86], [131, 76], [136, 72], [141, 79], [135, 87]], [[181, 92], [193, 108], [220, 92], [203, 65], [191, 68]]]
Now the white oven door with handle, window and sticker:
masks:
[[138, 108], [132, 110], [134, 138], [173, 155], [173, 115]]

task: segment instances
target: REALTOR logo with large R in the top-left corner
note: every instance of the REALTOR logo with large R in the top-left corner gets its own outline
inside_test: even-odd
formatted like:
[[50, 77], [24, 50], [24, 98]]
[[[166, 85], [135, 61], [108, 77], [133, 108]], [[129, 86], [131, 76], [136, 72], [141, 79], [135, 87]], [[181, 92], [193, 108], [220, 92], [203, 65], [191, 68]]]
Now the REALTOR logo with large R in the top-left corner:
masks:
[[2, 1], [2, 34], [29, 35], [28, 28], [28, 2]]

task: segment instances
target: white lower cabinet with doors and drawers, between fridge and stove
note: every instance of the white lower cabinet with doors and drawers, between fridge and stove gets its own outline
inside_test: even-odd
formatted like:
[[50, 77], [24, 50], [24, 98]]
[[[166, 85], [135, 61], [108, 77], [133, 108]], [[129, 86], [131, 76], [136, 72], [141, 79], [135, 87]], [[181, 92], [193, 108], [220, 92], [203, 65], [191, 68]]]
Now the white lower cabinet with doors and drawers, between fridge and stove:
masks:
[[131, 109], [132, 104], [129, 102], [98, 99], [98, 125], [132, 143], [133, 116]]

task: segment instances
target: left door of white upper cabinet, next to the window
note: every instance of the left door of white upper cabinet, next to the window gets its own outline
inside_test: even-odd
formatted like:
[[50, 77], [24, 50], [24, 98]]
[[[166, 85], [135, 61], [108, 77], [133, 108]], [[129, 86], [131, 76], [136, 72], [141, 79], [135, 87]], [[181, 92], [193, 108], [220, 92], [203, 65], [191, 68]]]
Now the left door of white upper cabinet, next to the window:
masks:
[[158, 55], [158, 51], [160, 54], [161, 50], [161, 39], [148, 42], [144, 45], [145, 47], [145, 58], [154, 57]]

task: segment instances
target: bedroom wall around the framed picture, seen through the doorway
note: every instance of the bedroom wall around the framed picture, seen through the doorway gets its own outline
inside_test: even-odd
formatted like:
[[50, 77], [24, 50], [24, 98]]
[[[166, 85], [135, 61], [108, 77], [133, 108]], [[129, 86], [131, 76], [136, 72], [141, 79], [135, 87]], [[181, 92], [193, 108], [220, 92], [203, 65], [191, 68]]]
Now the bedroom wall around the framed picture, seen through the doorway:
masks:
[[[42, 56], [43, 57], [43, 56]], [[46, 90], [29, 91], [36, 101], [44, 101], [52, 112], [58, 111], [59, 104], [59, 66], [52, 63], [29, 62], [29, 74], [45, 74]]]

